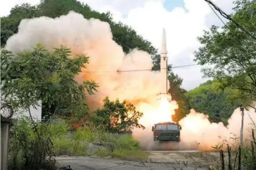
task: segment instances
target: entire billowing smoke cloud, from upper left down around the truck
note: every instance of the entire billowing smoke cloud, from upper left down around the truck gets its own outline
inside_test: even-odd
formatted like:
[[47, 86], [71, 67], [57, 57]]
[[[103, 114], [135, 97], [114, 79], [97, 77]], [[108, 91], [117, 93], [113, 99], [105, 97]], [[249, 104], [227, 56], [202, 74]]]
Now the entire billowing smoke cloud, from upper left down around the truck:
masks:
[[[85, 53], [89, 56], [89, 64], [80, 73], [77, 81], [94, 80], [99, 85], [96, 95], [89, 96], [90, 107], [101, 106], [102, 100], [109, 96], [110, 99], [119, 98], [134, 103], [144, 116], [140, 122], [146, 130], [135, 129], [134, 137], [138, 139], [145, 150], [162, 148], [163, 150], [184, 150], [201, 148], [209, 150], [210, 146], [226, 140], [232, 143], [232, 138], [239, 137], [241, 127], [241, 114], [237, 109], [229, 119], [229, 126], [222, 123], [210, 123], [204, 114], [191, 110], [187, 117], [179, 122], [181, 142], [179, 144], [155, 144], [151, 126], [156, 121], [170, 121], [171, 114], [177, 108], [175, 101], [164, 108], [155, 102], [156, 94], [160, 88], [159, 72], [117, 72], [138, 69], [151, 69], [152, 60], [147, 52], [131, 49], [126, 54], [122, 47], [114, 42], [110, 26], [98, 19], [85, 19], [81, 14], [69, 12], [60, 18], [51, 19], [40, 17], [23, 19], [17, 34], [7, 40], [6, 49], [14, 53], [24, 49], [30, 50], [37, 43], [41, 43], [49, 50], [67, 45], [72, 49], [72, 55]], [[95, 107], [93, 109], [95, 109]], [[160, 110], [159, 110], [160, 108]], [[251, 119], [256, 120], [254, 110], [249, 111]], [[251, 119], [245, 113], [245, 138], [250, 138]], [[236, 136], [234, 136], [236, 135]], [[197, 145], [196, 143], [200, 143]]]

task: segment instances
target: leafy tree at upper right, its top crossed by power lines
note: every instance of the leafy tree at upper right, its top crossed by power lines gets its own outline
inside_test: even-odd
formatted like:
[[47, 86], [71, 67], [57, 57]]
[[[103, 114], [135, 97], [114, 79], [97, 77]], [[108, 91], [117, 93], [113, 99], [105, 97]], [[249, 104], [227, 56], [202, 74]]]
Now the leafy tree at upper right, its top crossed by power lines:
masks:
[[[256, 34], [256, 1], [236, 1], [232, 18], [243, 28]], [[212, 26], [204, 31], [199, 42], [203, 45], [195, 52], [195, 61], [204, 66], [205, 77], [220, 81], [225, 87], [241, 91], [247, 106], [256, 101], [256, 43], [237, 28], [233, 22], [221, 30]], [[255, 108], [256, 109], [256, 108]]]

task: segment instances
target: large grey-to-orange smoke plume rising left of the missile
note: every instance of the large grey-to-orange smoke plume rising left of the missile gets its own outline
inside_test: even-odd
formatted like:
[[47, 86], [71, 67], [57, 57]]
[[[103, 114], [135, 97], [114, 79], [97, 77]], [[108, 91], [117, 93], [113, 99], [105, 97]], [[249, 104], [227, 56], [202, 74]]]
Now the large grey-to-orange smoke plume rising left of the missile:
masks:
[[72, 55], [88, 55], [89, 64], [82, 71], [92, 73], [80, 73], [76, 80], [94, 80], [100, 85], [96, 95], [88, 97], [91, 106], [100, 106], [106, 96], [133, 103], [155, 100], [160, 87], [159, 72], [117, 72], [151, 69], [150, 55], [137, 49], [126, 54], [112, 38], [107, 22], [93, 18], [88, 20], [70, 11], [55, 19], [45, 16], [23, 19], [18, 34], [7, 40], [6, 49], [16, 53], [41, 43], [49, 50], [67, 45], [72, 49]]

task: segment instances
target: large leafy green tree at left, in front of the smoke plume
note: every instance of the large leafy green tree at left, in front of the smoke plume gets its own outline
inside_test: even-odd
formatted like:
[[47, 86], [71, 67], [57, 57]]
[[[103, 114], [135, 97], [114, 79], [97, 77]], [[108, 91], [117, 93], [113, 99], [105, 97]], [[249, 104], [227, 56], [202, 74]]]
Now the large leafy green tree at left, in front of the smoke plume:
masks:
[[13, 53], [1, 49], [1, 85], [5, 102], [14, 109], [28, 109], [42, 101], [42, 115], [88, 113], [85, 90], [93, 94], [97, 84], [78, 84], [74, 77], [88, 63], [88, 57], [71, 59], [71, 49], [61, 46], [49, 52], [38, 44], [32, 51]]

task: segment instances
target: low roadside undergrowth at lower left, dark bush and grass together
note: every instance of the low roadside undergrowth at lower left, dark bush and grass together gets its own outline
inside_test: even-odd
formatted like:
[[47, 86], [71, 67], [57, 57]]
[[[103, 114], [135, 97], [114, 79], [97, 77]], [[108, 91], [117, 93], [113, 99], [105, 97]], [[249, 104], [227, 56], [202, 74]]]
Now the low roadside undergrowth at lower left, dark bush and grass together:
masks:
[[61, 119], [52, 119], [47, 124], [23, 117], [11, 127], [11, 136], [9, 169], [54, 169], [54, 159], [46, 157], [53, 155], [98, 155], [122, 159], [146, 159], [148, 155], [129, 134], [87, 128], [71, 132], [68, 121]]

